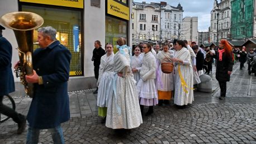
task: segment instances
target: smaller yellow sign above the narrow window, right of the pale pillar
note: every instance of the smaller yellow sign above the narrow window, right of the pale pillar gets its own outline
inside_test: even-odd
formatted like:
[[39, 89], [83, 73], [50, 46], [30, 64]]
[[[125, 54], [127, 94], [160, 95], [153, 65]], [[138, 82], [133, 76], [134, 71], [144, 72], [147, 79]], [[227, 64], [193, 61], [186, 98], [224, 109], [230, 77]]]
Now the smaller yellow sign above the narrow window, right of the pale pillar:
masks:
[[130, 20], [129, 7], [124, 6], [113, 0], [107, 0], [107, 13], [113, 16]]

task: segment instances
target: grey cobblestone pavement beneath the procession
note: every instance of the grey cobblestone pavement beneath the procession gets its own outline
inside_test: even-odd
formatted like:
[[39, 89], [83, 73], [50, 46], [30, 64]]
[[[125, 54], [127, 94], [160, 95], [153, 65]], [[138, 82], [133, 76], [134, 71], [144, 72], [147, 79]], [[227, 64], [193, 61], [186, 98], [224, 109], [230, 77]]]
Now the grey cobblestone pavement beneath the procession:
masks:
[[[173, 104], [156, 106], [153, 115], [143, 116], [140, 127], [116, 131], [101, 124], [93, 90], [70, 92], [72, 119], [63, 123], [66, 143], [256, 143], [256, 76], [234, 65], [227, 83], [227, 98], [219, 100], [214, 80], [212, 93], [195, 92], [195, 102], [184, 109]], [[16, 97], [17, 111], [26, 114], [31, 102]], [[17, 124], [0, 125], [0, 143], [25, 143], [26, 132], [16, 134]], [[53, 143], [45, 129], [40, 143]]]

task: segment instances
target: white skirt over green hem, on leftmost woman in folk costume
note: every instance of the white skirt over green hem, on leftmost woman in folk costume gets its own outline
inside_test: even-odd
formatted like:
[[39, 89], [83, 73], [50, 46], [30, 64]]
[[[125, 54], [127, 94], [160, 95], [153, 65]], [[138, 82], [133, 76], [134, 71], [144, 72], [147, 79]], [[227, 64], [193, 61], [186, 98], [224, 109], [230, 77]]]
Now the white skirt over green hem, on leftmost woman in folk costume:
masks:
[[108, 99], [113, 95], [113, 72], [105, 71], [101, 76], [101, 81], [98, 86], [98, 107], [107, 107]]

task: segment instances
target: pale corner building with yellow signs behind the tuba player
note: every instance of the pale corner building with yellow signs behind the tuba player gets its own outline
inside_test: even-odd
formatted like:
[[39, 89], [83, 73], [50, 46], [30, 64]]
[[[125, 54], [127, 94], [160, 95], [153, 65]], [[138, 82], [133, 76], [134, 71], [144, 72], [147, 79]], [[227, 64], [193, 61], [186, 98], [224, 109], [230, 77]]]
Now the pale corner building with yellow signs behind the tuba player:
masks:
[[[62, 1], [51, 0], [18, 0], [0, 1], [0, 15], [9, 12], [34, 12], [44, 18], [42, 26], [53, 26], [57, 30], [56, 39], [72, 53], [70, 63], [70, 78], [68, 89], [81, 90], [96, 87], [92, 52], [94, 41], [101, 41], [102, 47], [106, 42], [116, 45], [118, 37], [125, 37], [127, 44], [131, 39], [131, 10], [132, 1]], [[13, 47], [12, 64], [18, 61], [17, 41], [12, 30], [6, 28], [3, 36]], [[34, 42], [37, 31], [34, 31]], [[36, 49], [37, 45], [34, 46]], [[13, 75], [15, 75], [13, 73]], [[15, 78], [16, 92], [24, 92], [20, 79]]]

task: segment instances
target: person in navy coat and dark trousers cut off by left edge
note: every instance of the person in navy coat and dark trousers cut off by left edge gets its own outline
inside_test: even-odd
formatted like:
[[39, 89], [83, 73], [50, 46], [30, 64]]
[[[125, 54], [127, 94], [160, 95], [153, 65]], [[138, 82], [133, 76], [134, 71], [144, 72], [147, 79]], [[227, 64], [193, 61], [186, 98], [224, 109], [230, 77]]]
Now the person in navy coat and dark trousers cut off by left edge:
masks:
[[17, 133], [21, 134], [26, 128], [26, 117], [15, 112], [10, 107], [3, 104], [3, 95], [15, 91], [15, 84], [12, 75], [12, 45], [2, 37], [2, 30], [5, 28], [0, 25], [0, 113], [11, 117], [18, 123]]

